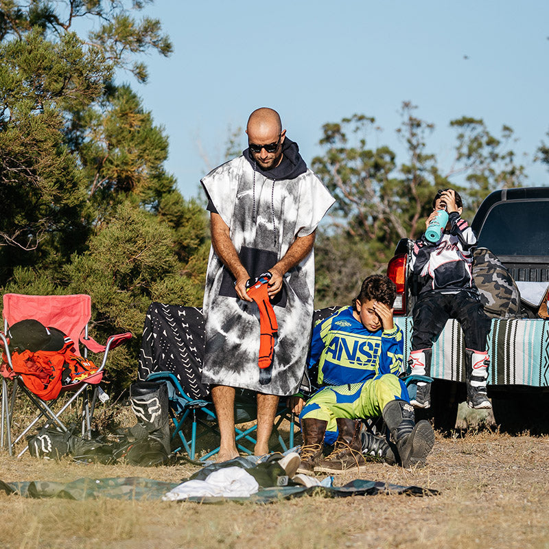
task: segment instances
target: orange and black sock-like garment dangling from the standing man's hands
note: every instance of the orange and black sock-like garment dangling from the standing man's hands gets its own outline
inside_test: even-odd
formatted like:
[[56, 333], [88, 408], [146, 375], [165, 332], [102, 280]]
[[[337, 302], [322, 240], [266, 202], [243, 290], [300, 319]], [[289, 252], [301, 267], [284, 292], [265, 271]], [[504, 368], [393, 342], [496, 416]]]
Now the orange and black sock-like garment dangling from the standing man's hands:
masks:
[[278, 324], [274, 309], [267, 294], [270, 272], [259, 275], [257, 279], [250, 279], [246, 285], [246, 292], [259, 308], [259, 368], [268, 368], [272, 364], [274, 345], [277, 344]]

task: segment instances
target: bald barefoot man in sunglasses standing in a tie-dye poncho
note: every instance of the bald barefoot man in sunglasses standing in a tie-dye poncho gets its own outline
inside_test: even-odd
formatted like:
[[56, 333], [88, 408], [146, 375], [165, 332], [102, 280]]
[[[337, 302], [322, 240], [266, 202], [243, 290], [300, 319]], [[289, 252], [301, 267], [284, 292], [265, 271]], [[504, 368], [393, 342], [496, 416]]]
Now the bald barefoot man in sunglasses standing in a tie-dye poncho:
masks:
[[[258, 108], [246, 126], [248, 148], [212, 170], [202, 185], [211, 219], [204, 294], [202, 381], [221, 432], [218, 461], [237, 457], [235, 388], [257, 393], [255, 454], [268, 453], [279, 397], [294, 395], [305, 369], [314, 296], [316, 226], [334, 203], [286, 137], [279, 114]], [[268, 301], [278, 334], [272, 363], [259, 369], [259, 307], [246, 283], [270, 273]], [[269, 308], [269, 307], [267, 307]]]

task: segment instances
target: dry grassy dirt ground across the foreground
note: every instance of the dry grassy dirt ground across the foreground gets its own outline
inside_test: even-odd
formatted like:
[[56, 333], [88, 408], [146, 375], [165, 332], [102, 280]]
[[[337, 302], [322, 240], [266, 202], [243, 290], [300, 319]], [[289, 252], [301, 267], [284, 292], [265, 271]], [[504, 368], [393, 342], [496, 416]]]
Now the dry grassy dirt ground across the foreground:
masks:
[[[44, 461], [0, 452], [0, 479], [140, 476], [178, 482], [194, 465], [143, 468]], [[0, 494], [1, 548], [549, 548], [549, 437], [436, 435], [429, 463], [371, 463], [360, 475], [440, 495], [318, 495], [272, 504], [30, 500]]]

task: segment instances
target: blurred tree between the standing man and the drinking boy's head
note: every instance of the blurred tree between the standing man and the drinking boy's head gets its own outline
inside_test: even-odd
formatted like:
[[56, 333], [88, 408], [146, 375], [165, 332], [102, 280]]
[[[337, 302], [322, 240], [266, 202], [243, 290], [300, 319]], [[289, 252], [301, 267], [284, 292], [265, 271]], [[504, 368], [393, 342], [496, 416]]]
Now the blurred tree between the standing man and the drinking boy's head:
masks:
[[334, 225], [351, 239], [367, 243], [368, 264], [374, 271], [386, 264], [399, 239], [421, 231], [428, 197], [443, 179], [434, 156], [425, 152], [425, 136], [433, 127], [414, 117], [414, 108], [403, 104], [403, 122], [397, 129], [408, 152], [406, 163], [399, 166], [387, 145], [368, 148], [369, 136], [380, 128], [373, 117], [364, 115], [325, 124], [320, 139], [325, 154], [312, 161], [336, 197]]

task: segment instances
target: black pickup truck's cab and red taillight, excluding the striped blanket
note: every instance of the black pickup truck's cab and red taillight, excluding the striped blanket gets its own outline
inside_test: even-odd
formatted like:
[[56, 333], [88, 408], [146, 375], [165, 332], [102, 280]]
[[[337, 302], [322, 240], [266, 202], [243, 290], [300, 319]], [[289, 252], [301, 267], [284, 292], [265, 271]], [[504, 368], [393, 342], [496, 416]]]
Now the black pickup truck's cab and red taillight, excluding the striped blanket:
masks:
[[[478, 247], [497, 255], [517, 283], [549, 282], [549, 187], [493, 191], [478, 208], [471, 228]], [[411, 246], [412, 241], [400, 240], [387, 267], [387, 276], [397, 285], [397, 316], [411, 314], [421, 285], [410, 273]], [[523, 301], [522, 306], [524, 316], [535, 315], [535, 305]]]

